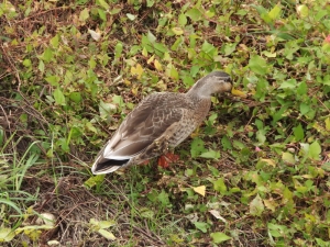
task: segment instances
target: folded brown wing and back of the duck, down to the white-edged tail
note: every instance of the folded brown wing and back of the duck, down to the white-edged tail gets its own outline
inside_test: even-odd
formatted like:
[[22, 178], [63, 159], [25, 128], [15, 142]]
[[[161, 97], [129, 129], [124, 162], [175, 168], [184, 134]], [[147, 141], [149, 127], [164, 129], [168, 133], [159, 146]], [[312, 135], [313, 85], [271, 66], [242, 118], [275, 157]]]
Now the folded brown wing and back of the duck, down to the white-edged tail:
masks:
[[143, 100], [99, 153], [92, 166], [94, 173], [117, 170], [127, 165], [132, 157], [143, 153], [162, 135], [167, 135], [168, 130], [173, 133], [173, 128], [178, 126], [187, 111], [183, 101], [179, 105], [175, 103], [162, 93], [151, 94]]

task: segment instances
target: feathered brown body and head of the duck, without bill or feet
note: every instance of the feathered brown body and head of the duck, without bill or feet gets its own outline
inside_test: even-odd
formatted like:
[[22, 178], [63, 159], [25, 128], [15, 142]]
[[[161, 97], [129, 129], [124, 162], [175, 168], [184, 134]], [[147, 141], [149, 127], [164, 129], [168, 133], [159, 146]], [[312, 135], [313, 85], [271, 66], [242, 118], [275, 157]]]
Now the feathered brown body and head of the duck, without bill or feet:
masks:
[[166, 154], [206, 119], [215, 93], [229, 92], [230, 76], [212, 71], [186, 93], [155, 92], [144, 98], [122, 121], [97, 155], [94, 175], [110, 173]]

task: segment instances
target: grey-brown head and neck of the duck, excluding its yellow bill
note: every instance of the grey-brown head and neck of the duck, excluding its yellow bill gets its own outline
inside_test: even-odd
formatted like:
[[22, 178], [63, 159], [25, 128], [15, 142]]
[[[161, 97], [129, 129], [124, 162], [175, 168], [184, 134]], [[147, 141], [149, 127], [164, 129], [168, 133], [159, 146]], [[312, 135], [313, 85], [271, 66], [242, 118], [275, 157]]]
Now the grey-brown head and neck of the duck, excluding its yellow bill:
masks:
[[187, 94], [210, 98], [213, 93], [228, 92], [231, 88], [231, 78], [227, 72], [213, 71], [199, 79]]

